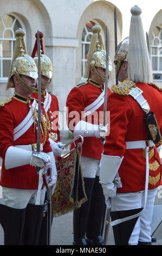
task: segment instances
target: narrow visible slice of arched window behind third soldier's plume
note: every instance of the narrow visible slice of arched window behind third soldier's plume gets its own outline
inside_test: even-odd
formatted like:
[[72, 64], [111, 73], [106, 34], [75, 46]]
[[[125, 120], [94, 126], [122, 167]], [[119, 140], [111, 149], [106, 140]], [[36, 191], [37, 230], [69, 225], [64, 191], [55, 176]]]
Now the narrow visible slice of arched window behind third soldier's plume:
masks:
[[95, 23], [92, 21], [87, 22], [82, 33], [82, 80], [85, 74], [90, 39], [92, 36], [92, 27], [94, 25]]

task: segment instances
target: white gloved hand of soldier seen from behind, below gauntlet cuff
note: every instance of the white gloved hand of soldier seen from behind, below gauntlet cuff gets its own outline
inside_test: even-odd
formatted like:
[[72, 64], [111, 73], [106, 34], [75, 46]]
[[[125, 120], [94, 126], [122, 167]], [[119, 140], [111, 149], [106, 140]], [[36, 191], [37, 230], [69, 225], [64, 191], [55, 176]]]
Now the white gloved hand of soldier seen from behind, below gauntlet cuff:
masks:
[[100, 184], [102, 185], [103, 194], [105, 199], [107, 200], [109, 197], [116, 196], [116, 184], [114, 182], [104, 182], [100, 180]]

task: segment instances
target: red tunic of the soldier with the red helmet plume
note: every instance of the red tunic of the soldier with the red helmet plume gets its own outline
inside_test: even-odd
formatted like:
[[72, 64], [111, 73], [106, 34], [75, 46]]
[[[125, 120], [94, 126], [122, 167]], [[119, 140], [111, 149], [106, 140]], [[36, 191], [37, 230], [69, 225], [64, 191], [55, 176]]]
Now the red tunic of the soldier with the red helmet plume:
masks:
[[[48, 92], [49, 93], [49, 92]], [[51, 93], [49, 93], [51, 96], [51, 103], [48, 107], [48, 109], [46, 109], [47, 114], [48, 114], [48, 118], [51, 124], [51, 129], [49, 133], [56, 133], [57, 134], [57, 139], [56, 141], [60, 141], [60, 131], [59, 131], [59, 102], [57, 100], [57, 97]], [[41, 101], [44, 102], [44, 100], [46, 99], [46, 95], [47, 92], [46, 90], [43, 90], [43, 92], [41, 93]], [[38, 99], [38, 93], [35, 92], [33, 94], [31, 94], [31, 97], [34, 97], [35, 99]], [[46, 106], [44, 106], [45, 108]]]

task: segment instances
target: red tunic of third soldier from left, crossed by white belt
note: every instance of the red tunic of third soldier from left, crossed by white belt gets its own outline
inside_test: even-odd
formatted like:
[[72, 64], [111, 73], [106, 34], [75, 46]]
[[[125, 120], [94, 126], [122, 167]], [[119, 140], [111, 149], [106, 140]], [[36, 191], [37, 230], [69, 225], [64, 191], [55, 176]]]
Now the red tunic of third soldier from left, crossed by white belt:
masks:
[[[103, 87], [102, 87], [103, 89]], [[74, 87], [68, 97], [67, 97], [67, 123], [69, 129], [73, 132], [75, 125], [80, 120], [88, 121], [92, 124], [101, 124], [102, 115], [99, 112], [103, 112], [103, 104], [96, 109], [97, 116], [88, 115], [85, 119], [82, 118], [81, 112], [84, 111], [85, 107], [89, 106], [94, 102], [99, 95], [102, 93], [102, 89], [94, 86], [92, 83], [87, 83], [79, 87]], [[108, 96], [111, 94], [111, 90], [108, 88]], [[73, 123], [73, 118], [70, 117], [70, 112], [76, 111], [79, 113], [79, 120]], [[102, 113], [103, 114], [103, 113]], [[74, 115], [75, 116], [75, 115]], [[92, 118], [91, 118], [92, 117]], [[90, 120], [92, 119], [92, 120]], [[71, 125], [70, 125], [71, 124]], [[74, 124], [74, 127], [72, 125]], [[72, 147], [74, 147], [72, 145]], [[82, 155], [92, 157], [94, 159], [101, 159], [101, 153], [103, 150], [103, 144], [101, 143], [101, 138], [96, 137], [85, 137], [82, 145]]]

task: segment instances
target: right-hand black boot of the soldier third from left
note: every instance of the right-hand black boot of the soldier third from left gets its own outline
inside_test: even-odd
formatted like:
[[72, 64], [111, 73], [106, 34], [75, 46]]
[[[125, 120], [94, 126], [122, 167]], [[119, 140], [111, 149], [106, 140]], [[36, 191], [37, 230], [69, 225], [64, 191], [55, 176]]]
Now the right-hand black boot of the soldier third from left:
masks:
[[102, 245], [101, 225], [105, 211], [105, 196], [102, 186], [99, 183], [99, 176], [96, 176], [92, 199], [90, 203], [89, 218], [86, 229], [86, 241], [88, 245]]

